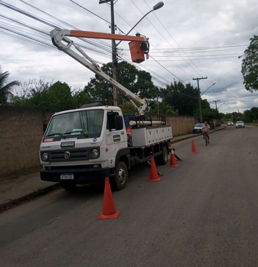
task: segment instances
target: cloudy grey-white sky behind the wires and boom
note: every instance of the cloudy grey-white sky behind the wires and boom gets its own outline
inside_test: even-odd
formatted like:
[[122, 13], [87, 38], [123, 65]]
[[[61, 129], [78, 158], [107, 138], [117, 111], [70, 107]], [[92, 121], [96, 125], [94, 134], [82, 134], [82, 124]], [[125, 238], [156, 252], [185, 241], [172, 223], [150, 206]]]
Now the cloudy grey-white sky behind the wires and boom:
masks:
[[[126, 34], [157, 2], [114, 1], [115, 24]], [[258, 1], [163, 2], [162, 8], [148, 14], [130, 33], [134, 36], [138, 31], [150, 42], [149, 60], [136, 67], [150, 72], [158, 87], [173, 79], [197, 86], [193, 78], [207, 77], [199, 81], [201, 93], [216, 84], [202, 98], [211, 107], [220, 100], [217, 107], [223, 113], [258, 107], [258, 92], [251, 94], [244, 88], [238, 59], [249, 39], [258, 34]], [[11, 73], [10, 81], [59, 80], [72, 89], [83, 88], [94, 73], [57, 50], [49, 32], [59, 27], [111, 33], [110, 21], [110, 5], [98, 0], [0, 0], [0, 65]], [[73, 40], [94, 60], [112, 60], [111, 40]], [[118, 48], [119, 57], [131, 62], [128, 42]]]

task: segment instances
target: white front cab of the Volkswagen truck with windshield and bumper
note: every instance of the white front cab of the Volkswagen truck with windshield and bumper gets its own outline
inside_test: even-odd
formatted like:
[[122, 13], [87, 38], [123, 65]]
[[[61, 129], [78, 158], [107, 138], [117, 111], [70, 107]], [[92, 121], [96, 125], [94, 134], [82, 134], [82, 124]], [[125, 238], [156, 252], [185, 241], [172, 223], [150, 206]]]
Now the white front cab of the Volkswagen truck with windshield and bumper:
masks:
[[[130, 151], [122, 111], [101, 106], [55, 113], [40, 145], [41, 179], [61, 182], [65, 189], [103, 180], [120, 172], [123, 189], [130, 168]], [[125, 170], [117, 170], [123, 160]], [[121, 165], [121, 164], [120, 164]]]

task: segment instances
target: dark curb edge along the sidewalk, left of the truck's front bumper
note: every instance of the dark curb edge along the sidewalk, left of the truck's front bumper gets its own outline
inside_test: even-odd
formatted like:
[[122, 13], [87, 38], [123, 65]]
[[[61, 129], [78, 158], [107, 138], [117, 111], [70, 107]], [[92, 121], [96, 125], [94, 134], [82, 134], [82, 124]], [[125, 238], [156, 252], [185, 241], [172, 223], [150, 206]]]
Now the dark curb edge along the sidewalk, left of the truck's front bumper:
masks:
[[34, 190], [33, 193], [29, 193], [25, 196], [22, 196], [19, 198], [14, 198], [12, 200], [8, 200], [6, 202], [1, 203], [0, 204], [0, 211], [9, 209], [11, 206], [18, 205], [22, 202], [29, 200], [29, 199], [33, 199], [33, 198], [37, 198], [37, 197], [46, 195], [47, 193], [54, 191], [54, 190], [57, 190], [57, 189], [60, 189], [60, 188], [61, 188], [60, 183], [56, 183], [56, 184], [53, 184], [51, 186], [47, 186], [47, 187], [44, 187], [44, 188], [41, 188], [38, 190]]

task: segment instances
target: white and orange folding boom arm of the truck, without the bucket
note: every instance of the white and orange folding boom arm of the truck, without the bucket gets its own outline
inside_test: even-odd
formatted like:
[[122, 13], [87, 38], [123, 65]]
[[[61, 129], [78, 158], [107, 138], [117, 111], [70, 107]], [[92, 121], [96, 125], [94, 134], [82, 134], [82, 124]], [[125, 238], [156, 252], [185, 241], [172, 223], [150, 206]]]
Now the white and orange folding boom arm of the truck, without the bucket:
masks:
[[[87, 35], [88, 33], [88, 35]], [[132, 105], [137, 109], [138, 115], [145, 115], [147, 103], [145, 99], [141, 99], [137, 95], [135, 95], [133, 92], [125, 88], [123, 85], [119, 84], [117, 81], [113, 80], [111, 77], [109, 77], [105, 72], [103, 72], [100, 68], [100, 66], [92, 60], [82, 49], [76, 45], [73, 44], [73, 41], [70, 40], [66, 36], [74, 36], [74, 37], [86, 37], [86, 38], [101, 38], [101, 39], [116, 39], [116, 40], [129, 40], [130, 41], [140, 41], [140, 42], [147, 42], [149, 38], [146, 37], [136, 37], [136, 36], [124, 36], [120, 34], [108, 34], [108, 33], [96, 33], [96, 32], [84, 32], [84, 31], [76, 31], [76, 30], [65, 30], [65, 29], [54, 29], [50, 32], [52, 42], [57, 48], [66, 54], [68, 54], [70, 57], [77, 60], [79, 63], [84, 65], [86, 68], [93, 71], [95, 74], [103, 78], [108, 83], [116, 86], [120, 91], [124, 93], [125, 96], [130, 98], [130, 102]], [[92, 37], [94, 36], [94, 37]], [[111, 36], [111, 37], [110, 37]], [[62, 42], [63, 41], [63, 42]], [[74, 52], [71, 49], [71, 46], [74, 46], [77, 51], [79, 51], [80, 54]], [[132, 101], [136, 101], [137, 103], [141, 104], [140, 107], [137, 107], [137, 105]]]

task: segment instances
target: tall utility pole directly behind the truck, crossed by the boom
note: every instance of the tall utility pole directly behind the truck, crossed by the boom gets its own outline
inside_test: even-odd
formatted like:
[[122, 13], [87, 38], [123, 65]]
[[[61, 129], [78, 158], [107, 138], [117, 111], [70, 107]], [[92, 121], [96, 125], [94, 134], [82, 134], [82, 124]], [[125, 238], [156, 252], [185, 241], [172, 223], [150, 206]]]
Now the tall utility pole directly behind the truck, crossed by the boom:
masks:
[[[115, 33], [115, 21], [114, 21], [114, 0], [100, 0], [100, 4], [110, 2], [111, 10], [111, 33]], [[116, 40], [112, 40], [112, 73], [113, 79], [117, 81], [117, 60], [116, 60]], [[114, 106], [118, 107], [118, 92], [117, 88], [113, 86]]]

